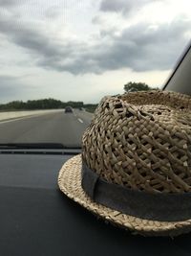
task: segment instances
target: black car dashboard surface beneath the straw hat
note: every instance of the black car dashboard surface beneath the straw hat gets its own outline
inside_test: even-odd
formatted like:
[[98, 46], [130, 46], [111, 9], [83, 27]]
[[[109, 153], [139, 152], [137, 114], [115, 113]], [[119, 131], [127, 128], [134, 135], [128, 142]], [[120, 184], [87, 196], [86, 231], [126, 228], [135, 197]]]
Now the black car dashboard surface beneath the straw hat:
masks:
[[191, 235], [134, 236], [58, 189], [59, 169], [74, 154], [0, 154], [0, 255], [190, 255]]

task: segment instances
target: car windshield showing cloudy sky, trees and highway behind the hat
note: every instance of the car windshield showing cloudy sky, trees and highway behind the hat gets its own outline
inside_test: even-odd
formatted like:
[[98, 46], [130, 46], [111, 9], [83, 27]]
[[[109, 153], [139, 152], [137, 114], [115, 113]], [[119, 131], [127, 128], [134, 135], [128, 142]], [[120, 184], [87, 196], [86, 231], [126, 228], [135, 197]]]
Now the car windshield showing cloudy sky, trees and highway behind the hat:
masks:
[[190, 8], [0, 0], [0, 144], [80, 147], [102, 97], [162, 88], [190, 40]]

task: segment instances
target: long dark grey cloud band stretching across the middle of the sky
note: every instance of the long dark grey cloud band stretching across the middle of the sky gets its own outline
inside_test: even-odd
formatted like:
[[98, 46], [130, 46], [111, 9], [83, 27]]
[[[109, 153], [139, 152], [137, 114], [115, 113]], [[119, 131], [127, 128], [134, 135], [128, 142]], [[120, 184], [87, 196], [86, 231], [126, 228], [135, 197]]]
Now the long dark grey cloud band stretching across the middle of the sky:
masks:
[[138, 23], [124, 29], [120, 35], [102, 30], [91, 46], [87, 41], [77, 42], [70, 38], [55, 40], [46, 29], [35, 24], [21, 19], [10, 20], [0, 15], [0, 33], [31, 53], [32, 61], [46, 69], [75, 75], [120, 68], [135, 71], [169, 69], [183, 50], [184, 34], [191, 27], [191, 21], [183, 17], [155, 28]]

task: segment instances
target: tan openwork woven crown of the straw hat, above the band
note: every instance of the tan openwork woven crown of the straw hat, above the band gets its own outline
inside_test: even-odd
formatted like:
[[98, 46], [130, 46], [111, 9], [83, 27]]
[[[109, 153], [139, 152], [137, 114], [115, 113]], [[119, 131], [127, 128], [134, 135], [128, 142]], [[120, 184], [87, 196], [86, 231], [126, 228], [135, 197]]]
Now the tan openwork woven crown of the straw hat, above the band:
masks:
[[108, 182], [157, 193], [191, 191], [191, 97], [105, 97], [82, 138], [87, 166]]

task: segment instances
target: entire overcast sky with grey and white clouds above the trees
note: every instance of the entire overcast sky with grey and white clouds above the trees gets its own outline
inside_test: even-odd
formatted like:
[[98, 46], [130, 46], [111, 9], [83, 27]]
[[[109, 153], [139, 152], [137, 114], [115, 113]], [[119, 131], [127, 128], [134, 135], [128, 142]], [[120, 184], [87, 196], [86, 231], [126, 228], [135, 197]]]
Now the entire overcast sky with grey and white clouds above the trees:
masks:
[[0, 0], [0, 103], [97, 103], [161, 86], [191, 37], [190, 0]]

